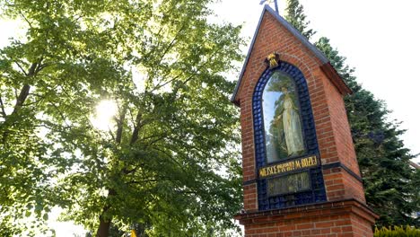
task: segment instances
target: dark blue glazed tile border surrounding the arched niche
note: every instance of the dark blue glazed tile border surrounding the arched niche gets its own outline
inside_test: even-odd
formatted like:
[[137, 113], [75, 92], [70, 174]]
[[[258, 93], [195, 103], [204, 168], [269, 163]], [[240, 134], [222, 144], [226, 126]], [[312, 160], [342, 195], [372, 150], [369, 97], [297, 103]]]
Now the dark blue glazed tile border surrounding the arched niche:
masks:
[[[308, 92], [308, 85], [302, 72], [296, 67], [286, 62], [279, 62], [279, 65], [272, 69], [267, 69], [258, 80], [252, 98], [252, 111], [254, 117], [254, 141], [257, 171], [259, 168], [267, 166], [266, 143], [264, 137], [264, 119], [262, 114], [262, 93], [269, 78], [275, 71], [281, 71], [290, 75], [296, 85], [299, 95], [302, 115], [302, 129], [307, 154], [319, 156], [319, 147], [313, 120], [311, 100]], [[301, 156], [302, 157], [302, 156]], [[298, 206], [316, 202], [326, 201], [324, 180], [320, 165], [309, 170], [311, 176], [311, 190], [306, 190], [293, 194], [279, 195], [276, 197], [267, 196], [267, 180], [258, 180], [258, 208], [259, 210], [279, 209], [290, 206]]]

